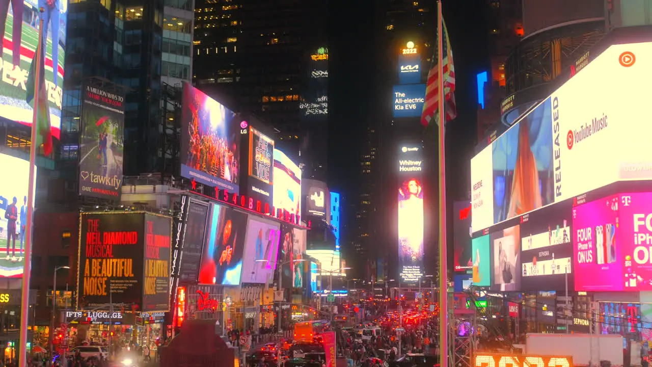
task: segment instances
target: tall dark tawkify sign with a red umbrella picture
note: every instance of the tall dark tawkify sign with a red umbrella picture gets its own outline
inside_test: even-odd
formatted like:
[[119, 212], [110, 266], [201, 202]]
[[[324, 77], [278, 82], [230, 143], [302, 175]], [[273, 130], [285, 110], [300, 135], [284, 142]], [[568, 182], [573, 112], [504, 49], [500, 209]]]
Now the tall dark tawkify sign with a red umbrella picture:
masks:
[[80, 134], [80, 195], [119, 200], [125, 150], [125, 96], [85, 86]]

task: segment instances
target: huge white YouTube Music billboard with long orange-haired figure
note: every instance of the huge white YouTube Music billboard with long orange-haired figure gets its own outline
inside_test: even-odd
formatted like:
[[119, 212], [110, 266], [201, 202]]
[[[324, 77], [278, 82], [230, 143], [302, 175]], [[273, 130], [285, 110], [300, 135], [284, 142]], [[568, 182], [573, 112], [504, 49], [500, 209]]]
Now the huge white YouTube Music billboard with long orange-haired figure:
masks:
[[473, 157], [473, 232], [609, 183], [652, 179], [652, 126], [641, 123], [649, 97], [638, 92], [652, 84], [651, 67], [652, 42], [610, 46]]

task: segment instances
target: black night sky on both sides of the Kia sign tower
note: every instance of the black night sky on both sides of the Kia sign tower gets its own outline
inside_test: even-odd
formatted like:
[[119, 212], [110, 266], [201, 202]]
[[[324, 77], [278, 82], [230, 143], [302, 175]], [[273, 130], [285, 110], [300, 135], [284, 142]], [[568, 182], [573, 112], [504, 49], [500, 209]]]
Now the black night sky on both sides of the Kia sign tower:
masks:
[[[346, 202], [357, 199], [351, 195], [357, 192], [359, 179], [358, 146], [375, 103], [374, 39], [384, 31], [384, 24], [374, 3], [335, 0], [330, 4], [328, 183], [331, 189], [342, 192]], [[476, 139], [475, 76], [488, 68], [485, 7], [483, 0], [443, 0], [454, 54], [458, 109], [456, 120], [447, 125], [449, 200], [466, 198], [469, 187], [469, 160]], [[430, 14], [436, 16], [436, 7]]]

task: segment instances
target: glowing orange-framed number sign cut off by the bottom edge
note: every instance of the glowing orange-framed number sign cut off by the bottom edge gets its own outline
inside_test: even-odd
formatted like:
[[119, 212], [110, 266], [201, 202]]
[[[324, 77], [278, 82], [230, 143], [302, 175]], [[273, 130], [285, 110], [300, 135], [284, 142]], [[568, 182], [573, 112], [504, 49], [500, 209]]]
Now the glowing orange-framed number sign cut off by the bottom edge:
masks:
[[573, 367], [572, 357], [478, 353], [475, 367]]

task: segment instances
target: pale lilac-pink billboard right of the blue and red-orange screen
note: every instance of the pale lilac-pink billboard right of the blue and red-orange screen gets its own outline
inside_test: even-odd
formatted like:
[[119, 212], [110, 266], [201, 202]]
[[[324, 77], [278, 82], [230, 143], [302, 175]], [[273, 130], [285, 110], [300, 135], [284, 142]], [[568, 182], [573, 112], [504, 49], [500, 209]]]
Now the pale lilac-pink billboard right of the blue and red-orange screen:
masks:
[[267, 284], [273, 279], [280, 242], [280, 223], [249, 215], [244, 239], [242, 283]]

